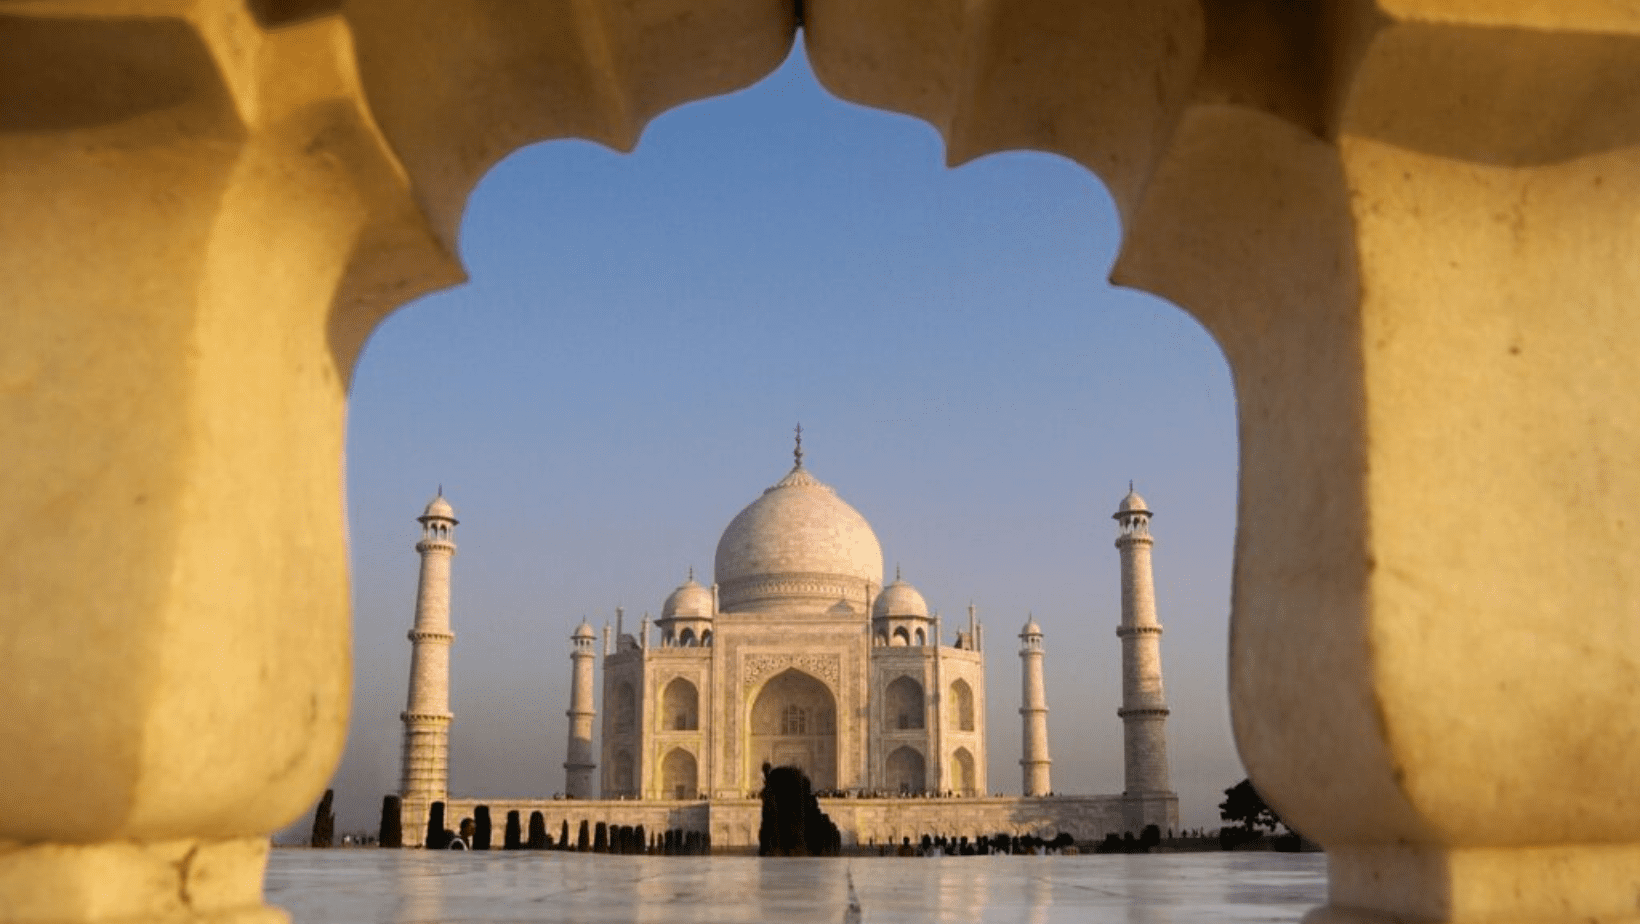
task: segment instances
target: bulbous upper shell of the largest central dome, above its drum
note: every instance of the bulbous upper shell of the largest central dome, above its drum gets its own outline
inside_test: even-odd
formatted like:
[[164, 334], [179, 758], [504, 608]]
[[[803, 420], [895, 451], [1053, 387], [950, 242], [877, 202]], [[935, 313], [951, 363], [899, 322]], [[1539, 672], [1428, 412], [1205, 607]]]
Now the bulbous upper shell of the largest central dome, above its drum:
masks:
[[725, 589], [776, 576], [876, 584], [882, 579], [882, 547], [866, 517], [797, 464], [730, 520], [713, 571]]

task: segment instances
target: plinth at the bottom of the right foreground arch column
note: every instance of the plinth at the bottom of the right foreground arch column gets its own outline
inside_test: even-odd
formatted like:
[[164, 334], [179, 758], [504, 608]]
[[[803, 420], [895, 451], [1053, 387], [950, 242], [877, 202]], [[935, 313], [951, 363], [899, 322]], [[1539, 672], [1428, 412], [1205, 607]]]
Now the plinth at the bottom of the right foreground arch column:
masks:
[[1328, 847], [1304, 924], [1640, 922], [1640, 845]]

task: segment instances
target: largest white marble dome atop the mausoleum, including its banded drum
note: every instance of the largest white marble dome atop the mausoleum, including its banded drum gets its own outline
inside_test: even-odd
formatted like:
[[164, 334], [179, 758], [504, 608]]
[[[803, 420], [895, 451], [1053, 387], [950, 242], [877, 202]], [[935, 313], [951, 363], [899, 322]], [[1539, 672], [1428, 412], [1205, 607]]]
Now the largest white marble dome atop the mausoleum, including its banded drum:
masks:
[[799, 463], [741, 510], [718, 540], [723, 611], [858, 602], [882, 581], [871, 524]]

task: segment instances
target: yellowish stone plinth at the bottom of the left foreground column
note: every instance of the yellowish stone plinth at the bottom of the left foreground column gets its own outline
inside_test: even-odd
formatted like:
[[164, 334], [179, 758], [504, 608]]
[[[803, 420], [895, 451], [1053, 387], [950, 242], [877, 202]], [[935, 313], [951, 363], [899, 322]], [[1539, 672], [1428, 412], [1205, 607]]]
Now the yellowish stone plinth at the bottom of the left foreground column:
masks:
[[267, 839], [0, 845], [5, 924], [289, 924]]

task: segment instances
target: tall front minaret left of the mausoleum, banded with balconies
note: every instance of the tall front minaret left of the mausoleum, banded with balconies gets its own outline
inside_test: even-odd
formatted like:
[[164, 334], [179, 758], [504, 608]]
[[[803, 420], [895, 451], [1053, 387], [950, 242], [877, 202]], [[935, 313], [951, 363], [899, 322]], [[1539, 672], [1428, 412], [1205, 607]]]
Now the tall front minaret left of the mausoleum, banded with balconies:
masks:
[[417, 517], [421, 524], [421, 579], [410, 630], [410, 696], [399, 719], [405, 724], [399, 796], [407, 844], [420, 844], [428, 807], [449, 796], [449, 560], [456, 555], [456, 510], [444, 489]]

